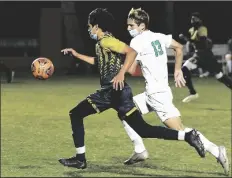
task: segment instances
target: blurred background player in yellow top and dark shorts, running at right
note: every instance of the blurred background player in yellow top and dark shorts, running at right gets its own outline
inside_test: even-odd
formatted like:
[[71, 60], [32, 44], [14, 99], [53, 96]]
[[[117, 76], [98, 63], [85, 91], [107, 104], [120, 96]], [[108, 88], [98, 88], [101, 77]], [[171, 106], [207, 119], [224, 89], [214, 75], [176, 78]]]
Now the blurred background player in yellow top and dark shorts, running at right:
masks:
[[197, 91], [193, 87], [191, 79], [191, 70], [198, 67], [203, 70], [209, 71], [215, 75], [215, 78], [232, 89], [232, 80], [222, 72], [221, 65], [217, 62], [212, 52], [212, 41], [208, 38], [208, 30], [203, 25], [202, 19], [198, 12], [192, 14], [191, 17], [192, 27], [189, 29], [190, 38], [184, 37], [182, 34], [181, 38], [187, 41], [187, 51], [190, 52], [192, 49], [192, 57], [189, 58], [183, 65], [182, 71], [186, 80], [186, 86], [189, 89], [190, 95], [183, 99], [184, 103], [190, 102], [199, 97]]

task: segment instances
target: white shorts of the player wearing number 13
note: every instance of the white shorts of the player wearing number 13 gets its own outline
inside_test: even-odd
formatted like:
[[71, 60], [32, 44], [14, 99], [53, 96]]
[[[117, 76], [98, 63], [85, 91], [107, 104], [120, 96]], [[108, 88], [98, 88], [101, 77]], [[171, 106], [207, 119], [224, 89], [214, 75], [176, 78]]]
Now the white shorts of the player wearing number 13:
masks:
[[171, 89], [148, 95], [146, 92], [133, 97], [134, 103], [142, 114], [156, 112], [162, 122], [169, 118], [180, 117], [179, 110], [172, 103]]

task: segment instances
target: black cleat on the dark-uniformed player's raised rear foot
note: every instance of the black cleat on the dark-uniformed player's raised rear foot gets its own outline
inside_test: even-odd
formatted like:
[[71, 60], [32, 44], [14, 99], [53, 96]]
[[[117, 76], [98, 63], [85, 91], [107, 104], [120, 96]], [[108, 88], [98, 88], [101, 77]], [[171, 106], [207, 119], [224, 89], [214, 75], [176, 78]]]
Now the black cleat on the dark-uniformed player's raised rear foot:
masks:
[[200, 157], [205, 157], [204, 145], [195, 129], [191, 130], [190, 132], [186, 132], [185, 141], [197, 150], [197, 153], [200, 155]]

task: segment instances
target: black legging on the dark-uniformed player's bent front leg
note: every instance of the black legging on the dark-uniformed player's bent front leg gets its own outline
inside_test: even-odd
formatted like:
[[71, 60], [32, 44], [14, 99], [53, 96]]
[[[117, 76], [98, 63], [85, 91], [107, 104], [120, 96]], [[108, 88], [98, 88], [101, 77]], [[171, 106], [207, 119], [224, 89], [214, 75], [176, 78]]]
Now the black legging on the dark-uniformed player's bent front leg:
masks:
[[[76, 148], [84, 146], [84, 124], [83, 119], [91, 114], [96, 113], [93, 107], [88, 103], [87, 100], [82, 101], [79, 103], [75, 108], [73, 108], [69, 112], [69, 116], [71, 119], [72, 131], [73, 131], [73, 141]], [[83, 161], [85, 160], [85, 153], [76, 154], [78, 160]]]

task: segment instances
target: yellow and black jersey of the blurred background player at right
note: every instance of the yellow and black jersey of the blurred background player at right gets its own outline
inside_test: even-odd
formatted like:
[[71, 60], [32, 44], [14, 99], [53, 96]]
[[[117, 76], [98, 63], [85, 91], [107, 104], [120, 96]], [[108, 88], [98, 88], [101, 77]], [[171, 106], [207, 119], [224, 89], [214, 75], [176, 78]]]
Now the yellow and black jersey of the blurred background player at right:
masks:
[[[191, 41], [195, 44], [196, 49], [205, 50], [212, 48], [212, 41], [208, 38], [208, 29], [205, 26], [202, 25], [198, 28], [190, 28], [189, 35]], [[202, 41], [202, 37], [206, 40]]]

